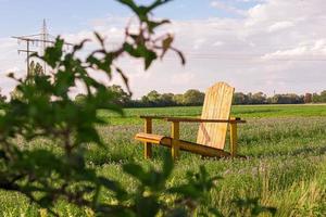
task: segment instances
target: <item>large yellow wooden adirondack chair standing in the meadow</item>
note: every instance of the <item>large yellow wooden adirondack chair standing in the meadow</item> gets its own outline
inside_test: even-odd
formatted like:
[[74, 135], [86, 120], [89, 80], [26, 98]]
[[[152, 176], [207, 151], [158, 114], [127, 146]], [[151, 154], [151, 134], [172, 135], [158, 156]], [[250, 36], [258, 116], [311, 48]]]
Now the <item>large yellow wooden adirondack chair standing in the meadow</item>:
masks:
[[[246, 123], [240, 118], [230, 118], [230, 107], [235, 88], [225, 82], [217, 82], [205, 93], [201, 118], [140, 116], [145, 119], [145, 132], [135, 139], [145, 142], [145, 157], [152, 156], [152, 144], [160, 144], [172, 150], [173, 158], [177, 158], [179, 150], [200, 154], [205, 157], [237, 156], [237, 124]], [[152, 120], [163, 119], [172, 123], [171, 136], [152, 133]], [[180, 123], [199, 123], [197, 143], [180, 140]], [[230, 129], [230, 152], [224, 151], [227, 129]]]

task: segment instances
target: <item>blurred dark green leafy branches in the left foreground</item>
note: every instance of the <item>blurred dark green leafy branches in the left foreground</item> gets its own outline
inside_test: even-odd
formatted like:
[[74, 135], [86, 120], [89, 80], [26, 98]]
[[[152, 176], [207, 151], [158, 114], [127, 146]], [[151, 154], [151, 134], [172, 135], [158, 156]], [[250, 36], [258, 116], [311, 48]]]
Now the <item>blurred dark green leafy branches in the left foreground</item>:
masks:
[[[128, 88], [128, 79], [115, 61], [128, 53], [131, 58], [142, 59], [145, 68], [154, 60], [163, 58], [167, 50], [176, 51], [185, 63], [183, 54], [172, 47], [173, 36], [155, 37], [154, 30], [168, 21], [153, 21], [152, 10], [167, 1], [154, 1], [149, 7], [137, 5], [131, 0], [118, 1], [129, 7], [139, 18], [139, 29], [126, 28], [125, 41], [116, 50], [108, 50], [105, 41], [95, 34], [100, 49], [91, 52], [85, 60], [77, 53], [83, 51], [88, 40], [74, 46], [72, 51], [63, 52], [64, 40], [57, 38], [53, 47], [46, 49], [42, 60], [51, 68], [50, 75], [42, 73], [40, 65], [33, 62], [30, 73], [25, 79], [14, 78], [18, 85], [16, 93], [10, 100], [4, 113], [0, 116], [0, 188], [16, 191], [26, 195], [41, 207], [51, 209], [59, 201], [66, 201], [77, 206], [90, 207], [98, 215], [153, 216], [191, 212], [193, 204], [201, 195], [201, 186], [208, 186], [206, 179], [189, 180], [185, 186], [174, 187], [171, 194], [180, 199], [167, 206], [161, 201], [166, 191], [165, 182], [171, 175], [173, 163], [164, 161], [163, 170], [151, 168], [146, 171], [136, 164], [127, 164], [123, 170], [139, 180], [135, 192], [126, 192], [120, 183], [97, 175], [85, 161], [87, 145], [103, 145], [96, 125], [103, 124], [97, 116], [97, 110], [108, 108], [123, 114], [116, 99], [121, 94], [118, 87], [106, 87], [96, 80], [90, 72], [104, 73], [109, 79], [113, 74], [122, 76]], [[82, 84], [86, 93], [73, 101], [68, 93], [72, 88]], [[48, 149], [27, 149], [14, 141], [23, 138], [26, 142], [46, 138], [58, 145], [60, 154]], [[110, 191], [116, 203], [102, 203], [101, 192]], [[191, 193], [191, 194], [190, 194]], [[190, 203], [191, 201], [191, 203]], [[180, 205], [181, 204], [181, 205]]]

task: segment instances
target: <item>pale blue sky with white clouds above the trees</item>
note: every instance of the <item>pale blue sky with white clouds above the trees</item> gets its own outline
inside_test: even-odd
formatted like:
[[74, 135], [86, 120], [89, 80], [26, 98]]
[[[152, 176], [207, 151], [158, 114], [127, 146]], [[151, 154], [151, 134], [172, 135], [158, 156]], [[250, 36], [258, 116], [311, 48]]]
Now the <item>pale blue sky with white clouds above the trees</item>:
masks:
[[[136, 0], [147, 4], [150, 0]], [[121, 62], [134, 98], [151, 90], [204, 91], [223, 80], [236, 91], [275, 93], [321, 92], [326, 89], [325, 0], [174, 0], [154, 11], [170, 18], [163, 30], [175, 35], [187, 64], [170, 53], [147, 72], [139, 61]], [[108, 46], [123, 38], [131, 12], [114, 0], [0, 0], [0, 87], [9, 93], [7, 74], [25, 75], [24, 43], [11, 36], [40, 33], [47, 20], [51, 35], [68, 42], [92, 38], [97, 30]], [[35, 46], [33, 48], [38, 50]], [[99, 77], [99, 79], [102, 79]], [[121, 85], [118, 76], [111, 84]]]

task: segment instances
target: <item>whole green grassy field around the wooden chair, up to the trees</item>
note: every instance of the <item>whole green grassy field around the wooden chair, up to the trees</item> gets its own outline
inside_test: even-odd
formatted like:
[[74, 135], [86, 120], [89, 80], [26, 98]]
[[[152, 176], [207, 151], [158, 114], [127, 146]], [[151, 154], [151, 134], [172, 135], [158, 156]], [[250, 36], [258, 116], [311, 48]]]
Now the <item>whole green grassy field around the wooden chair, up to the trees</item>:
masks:
[[[143, 166], [160, 165], [168, 150], [154, 149], [152, 162], [142, 158], [142, 145], [134, 141], [142, 130], [139, 115], [199, 116], [201, 107], [127, 108], [124, 117], [106, 111], [99, 115], [109, 125], [99, 126], [105, 148], [89, 149], [87, 161], [98, 171], [121, 180], [133, 191], [135, 182], [121, 174], [121, 165], [137, 162]], [[277, 208], [276, 216], [326, 216], [326, 105], [234, 106], [233, 116], [248, 124], [239, 127], [239, 152], [249, 159], [201, 159], [183, 153], [168, 184], [183, 182], [187, 170], [204, 165], [213, 176], [223, 179], [211, 192], [206, 204], [225, 216], [234, 216], [231, 201], [260, 197], [266, 206]], [[154, 123], [154, 132], [168, 135], [170, 126]], [[181, 125], [181, 138], [196, 140], [198, 126]], [[196, 133], [195, 133], [196, 132]], [[45, 145], [42, 141], [35, 145]], [[110, 196], [103, 200], [110, 200]], [[200, 207], [205, 212], [206, 206]], [[58, 204], [61, 216], [87, 216], [87, 210]], [[246, 216], [246, 210], [237, 210]], [[22, 195], [0, 192], [0, 216], [38, 216], [40, 210]]]

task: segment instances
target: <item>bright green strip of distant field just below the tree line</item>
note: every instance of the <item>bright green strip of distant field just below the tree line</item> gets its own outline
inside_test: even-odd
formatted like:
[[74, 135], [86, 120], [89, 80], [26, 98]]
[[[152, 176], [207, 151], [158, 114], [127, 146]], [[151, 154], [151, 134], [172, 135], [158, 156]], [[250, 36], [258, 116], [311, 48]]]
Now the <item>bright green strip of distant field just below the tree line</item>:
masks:
[[[99, 115], [113, 125], [137, 124], [140, 115], [200, 116], [201, 106], [125, 108], [124, 117], [100, 111]], [[231, 115], [242, 118], [261, 117], [326, 117], [326, 104], [304, 105], [235, 105]]]

